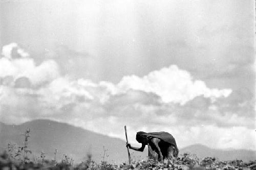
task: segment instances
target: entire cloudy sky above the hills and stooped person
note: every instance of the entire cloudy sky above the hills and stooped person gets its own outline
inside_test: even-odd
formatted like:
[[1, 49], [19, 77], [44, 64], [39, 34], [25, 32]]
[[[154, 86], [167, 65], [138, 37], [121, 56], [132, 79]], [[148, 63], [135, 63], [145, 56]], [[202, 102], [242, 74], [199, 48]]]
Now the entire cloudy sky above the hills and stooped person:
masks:
[[0, 121], [256, 150], [254, 1], [0, 1]]

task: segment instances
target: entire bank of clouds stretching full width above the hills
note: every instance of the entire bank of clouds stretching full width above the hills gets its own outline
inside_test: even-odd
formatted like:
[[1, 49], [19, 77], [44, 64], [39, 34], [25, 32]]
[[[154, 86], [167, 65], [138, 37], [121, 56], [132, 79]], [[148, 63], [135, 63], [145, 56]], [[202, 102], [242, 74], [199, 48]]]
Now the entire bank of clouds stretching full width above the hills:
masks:
[[13, 58], [13, 44], [0, 58], [4, 123], [49, 118], [120, 138], [126, 125], [132, 142], [137, 131], [167, 131], [180, 147], [255, 149], [254, 102], [246, 90], [208, 88], [176, 65], [117, 84], [72, 80], [54, 60], [36, 65], [29, 55]]

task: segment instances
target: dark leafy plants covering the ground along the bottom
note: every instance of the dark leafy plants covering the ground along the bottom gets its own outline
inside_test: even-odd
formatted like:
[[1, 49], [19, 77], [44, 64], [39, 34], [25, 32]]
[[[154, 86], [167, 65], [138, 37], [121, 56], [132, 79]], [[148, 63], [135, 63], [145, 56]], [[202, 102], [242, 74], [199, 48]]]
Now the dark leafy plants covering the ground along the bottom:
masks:
[[215, 157], [199, 159], [196, 155], [187, 153], [179, 155], [177, 159], [172, 161], [132, 161], [131, 165], [126, 163], [116, 165], [105, 161], [105, 150], [100, 163], [93, 161], [90, 154], [87, 155], [86, 160], [78, 164], [74, 164], [74, 160], [68, 155], [63, 155], [61, 161], [57, 162], [57, 150], [55, 150], [52, 160], [47, 159], [44, 152], [41, 152], [37, 158], [33, 156], [28, 148], [30, 132], [31, 129], [28, 129], [23, 134], [25, 136], [23, 147], [16, 147], [12, 143], [8, 144], [6, 151], [0, 155], [0, 169], [256, 169], [256, 160], [250, 162], [243, 162], [242, 160], [219, 161]]

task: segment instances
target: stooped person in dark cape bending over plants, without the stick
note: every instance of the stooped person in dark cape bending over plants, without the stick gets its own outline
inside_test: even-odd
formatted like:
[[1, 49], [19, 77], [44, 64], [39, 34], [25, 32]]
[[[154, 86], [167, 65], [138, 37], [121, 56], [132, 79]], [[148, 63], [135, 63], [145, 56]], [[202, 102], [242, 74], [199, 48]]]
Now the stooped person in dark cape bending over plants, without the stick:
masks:
[[132, 147], [130, 143], [126, 143], [126, 147], [143, 152], [147, 145], [148, 159], [162, 161], [163, 159], [171, 160], [178, 156], [179, 150], [175, 138], [167, 132], [137, 132], [136, 140], [142, 144], [141, 148]]

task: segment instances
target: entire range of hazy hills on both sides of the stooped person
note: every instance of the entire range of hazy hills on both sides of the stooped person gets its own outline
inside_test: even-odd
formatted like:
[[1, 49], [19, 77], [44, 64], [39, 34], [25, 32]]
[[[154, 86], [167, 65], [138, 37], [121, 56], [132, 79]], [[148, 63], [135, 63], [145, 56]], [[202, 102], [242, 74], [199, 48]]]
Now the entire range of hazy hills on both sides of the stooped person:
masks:
[[[58, 160], [63, 154], [71, 156], [75, 162], [86, 159], [91, 153], [93, 160], [103, 160], [103, 145], [105, 160], [110, 163], [122, 163], [127, 161], [127, 149], [125, 141], [98, 133], [94, 133], [82, 128], [74, 127], [65, 123], [53, 122], [51, 120], [33, 120], [22, 125], [5, 125], [0, 123], [0, 150], [7, 148], [8, 142], [23, 145], [24, 136], [21, 135], [27, 128], [32, 128], [32, 135], [29, 138], [29, 148], [33, 155], [37, 157], [41, 151], [46, 153], [46, 158], [53, 159], [54, 151], [57, 149]], [[146, 159], [147, 149], [143, 153], [132, 152], [134, 159]], [[217, 150], [210, 149], [202, 144], [194, 144], [180, 149], [180, 153], [189, 152], [198, 157], [217, 156], [220, 160], [242, 159], [244, 161], [255, 160], [255, 151], [248, 150]], [[114, 160], [114, 161], [113, 161]]]

